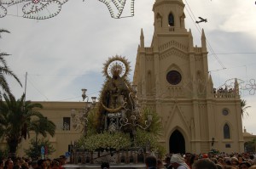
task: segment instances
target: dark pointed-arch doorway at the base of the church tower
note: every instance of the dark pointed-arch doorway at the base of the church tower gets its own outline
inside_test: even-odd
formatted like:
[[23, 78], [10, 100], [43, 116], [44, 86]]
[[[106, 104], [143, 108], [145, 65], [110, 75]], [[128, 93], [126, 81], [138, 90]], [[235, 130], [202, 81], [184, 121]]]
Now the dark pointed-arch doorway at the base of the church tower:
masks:
[[169, 140], [169, 150], [170, 153], [180, 153], [185, 154], [185, 139], [183, 137], [183, 134], [179, 132], [178, 130], [175, 130], [172, 132], [172, 135]]

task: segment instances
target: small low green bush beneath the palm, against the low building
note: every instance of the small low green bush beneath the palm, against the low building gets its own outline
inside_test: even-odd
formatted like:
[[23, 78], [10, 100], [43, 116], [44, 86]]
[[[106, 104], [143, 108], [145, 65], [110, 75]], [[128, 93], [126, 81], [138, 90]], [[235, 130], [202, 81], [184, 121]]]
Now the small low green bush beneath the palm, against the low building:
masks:
[[38, 140], [36, 138], [32, 138], [29, 144], [29, 148], [24, 149], [24, 151], [27, 156], [32, 158], [38, 158], [41, 156], [42, 146], [44, 146], [44, 149], [47, 148], [47, 155], [52, 155], [55, 152], [53, 145], [49, 143], [49, 140], [45, 140], [44, 138]]

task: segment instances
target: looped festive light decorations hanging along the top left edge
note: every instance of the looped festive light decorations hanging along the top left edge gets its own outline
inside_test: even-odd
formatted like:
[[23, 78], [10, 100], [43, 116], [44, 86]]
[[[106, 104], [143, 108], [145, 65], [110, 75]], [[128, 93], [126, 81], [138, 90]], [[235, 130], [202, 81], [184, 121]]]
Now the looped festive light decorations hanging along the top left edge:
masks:
[[[0, 0], [0, 18], [8, 15], [8, 9], [10, 7], [14, 6], [15, 4], [20, 4], [22, 5], [23, 18], [46, 20], [59, 14], [61, 12], [61, 6], [64, 3], [67, 3], [67, 1], [68, 0]], [[106, 4], [111, 17], [114, 19], [134, 16], [135, 0], [98, 1]]]

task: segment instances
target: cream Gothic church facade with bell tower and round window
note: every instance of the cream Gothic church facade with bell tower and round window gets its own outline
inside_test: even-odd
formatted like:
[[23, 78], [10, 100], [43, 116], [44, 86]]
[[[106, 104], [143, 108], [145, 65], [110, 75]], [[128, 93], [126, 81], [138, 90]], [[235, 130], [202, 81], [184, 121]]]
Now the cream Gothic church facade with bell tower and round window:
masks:
[[151, 46], [144, 46], [142, 30], [137, 49], [137, 97], [160, 115], [167, 153], [243, 152], [238, 83], [213, 88], [205, 33], [194, 46], [183, 9], [182, 0], [155, 1]]

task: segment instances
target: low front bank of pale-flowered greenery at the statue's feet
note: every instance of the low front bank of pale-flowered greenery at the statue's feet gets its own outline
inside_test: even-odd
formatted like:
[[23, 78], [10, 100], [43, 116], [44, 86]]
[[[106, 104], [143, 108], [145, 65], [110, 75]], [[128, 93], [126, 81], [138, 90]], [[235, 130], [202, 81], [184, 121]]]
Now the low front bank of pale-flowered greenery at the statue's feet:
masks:
[[79, 147], [94, 151], [96, 149], [128, 149], [131, 146], [129, 134], [122, 132], [102, 132], [89, 137], [82, 137], [78, 141]]

